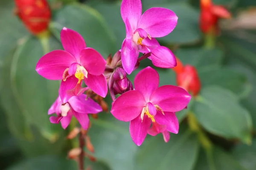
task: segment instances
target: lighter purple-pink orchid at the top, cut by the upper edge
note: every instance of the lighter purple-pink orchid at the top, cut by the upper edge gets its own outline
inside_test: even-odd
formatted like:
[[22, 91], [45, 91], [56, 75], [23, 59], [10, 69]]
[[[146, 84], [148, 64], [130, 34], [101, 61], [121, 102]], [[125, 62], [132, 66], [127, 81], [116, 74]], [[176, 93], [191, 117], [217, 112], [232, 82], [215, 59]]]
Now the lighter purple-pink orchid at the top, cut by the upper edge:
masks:
[[124, 70], [131, 74], [139, 52], [151, 52], [152, 63], [161, 68], [173, 68], [176, 59], [169, 48], [160, 46], [154, 37], [168, 35], [177, 25], [178, 17], [166, 8], [149, 8], [142, 14], [141, 0], [122, 0], [121, 16], [126, 27], [121, 59]]

